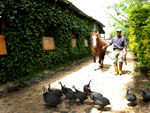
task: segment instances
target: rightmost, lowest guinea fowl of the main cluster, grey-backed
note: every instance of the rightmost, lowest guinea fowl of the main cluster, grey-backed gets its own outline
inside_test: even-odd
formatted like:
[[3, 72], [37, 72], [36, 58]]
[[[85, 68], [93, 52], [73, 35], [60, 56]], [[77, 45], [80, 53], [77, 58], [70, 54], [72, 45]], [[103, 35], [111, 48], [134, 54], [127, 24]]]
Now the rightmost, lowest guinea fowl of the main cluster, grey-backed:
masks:
[[93, 100], [93, 104], [94, 105], [99, 105], [103, 111], [104, 107], [107, 105], [110, 105], [110, 101], [106, 98], [106, 97], [101, 97], [101, 98], [95, 98], [95, 96], [93, 96], [94, 100]]

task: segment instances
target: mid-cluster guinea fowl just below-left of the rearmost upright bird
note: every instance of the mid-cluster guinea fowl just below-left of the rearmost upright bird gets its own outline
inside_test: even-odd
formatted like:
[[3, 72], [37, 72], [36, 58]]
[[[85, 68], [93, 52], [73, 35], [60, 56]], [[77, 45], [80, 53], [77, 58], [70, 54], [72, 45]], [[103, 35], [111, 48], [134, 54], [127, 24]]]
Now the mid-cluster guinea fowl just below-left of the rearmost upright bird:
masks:
[[83, 101], [87, 99], [87, 93], [77, 90], [75, 86], [72, 86], [72, 88], [74, 88], [76, 91], [76, 98], [80, 100], [80, 103], [83, 103]]

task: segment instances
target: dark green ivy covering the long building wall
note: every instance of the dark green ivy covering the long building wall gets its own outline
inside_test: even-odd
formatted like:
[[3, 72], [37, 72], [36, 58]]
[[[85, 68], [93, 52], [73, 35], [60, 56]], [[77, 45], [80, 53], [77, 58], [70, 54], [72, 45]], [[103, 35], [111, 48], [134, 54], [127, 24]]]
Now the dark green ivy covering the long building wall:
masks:
[[[84, 39], [90, 36], [93, 22], [56, 0], [2, 0], [8, 55], [0, 56], [0, 82], [54, 69], [90, 55]], [[77, 33], [77, 48], [72, 48]], [[42, 37], [53, 36], [55, 50], [44, 51]], [[88, 38], [89, 44], [90, 40]]]

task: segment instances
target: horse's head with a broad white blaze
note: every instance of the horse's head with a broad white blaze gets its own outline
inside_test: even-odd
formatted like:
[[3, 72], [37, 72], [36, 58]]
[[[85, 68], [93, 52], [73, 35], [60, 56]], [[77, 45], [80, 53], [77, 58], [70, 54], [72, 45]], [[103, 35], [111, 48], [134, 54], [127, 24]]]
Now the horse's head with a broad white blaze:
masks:
[[96, 48], [98, 45], [98, 33], [91, 33], [91, 45], [93, 48]]

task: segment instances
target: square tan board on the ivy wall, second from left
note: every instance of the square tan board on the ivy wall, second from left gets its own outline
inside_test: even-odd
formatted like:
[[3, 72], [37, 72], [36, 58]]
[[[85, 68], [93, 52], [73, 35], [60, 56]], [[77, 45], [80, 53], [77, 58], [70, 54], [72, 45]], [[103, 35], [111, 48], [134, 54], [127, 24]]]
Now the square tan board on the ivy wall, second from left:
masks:
[[43, 49], [44, 50], [54, 50], [55, 43], [52, 37], [43, 37]]

